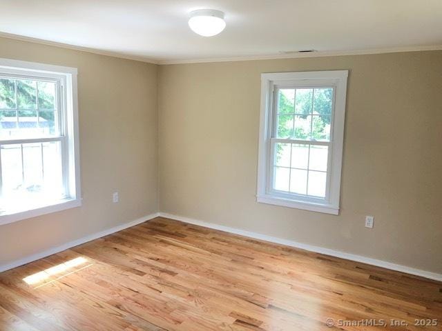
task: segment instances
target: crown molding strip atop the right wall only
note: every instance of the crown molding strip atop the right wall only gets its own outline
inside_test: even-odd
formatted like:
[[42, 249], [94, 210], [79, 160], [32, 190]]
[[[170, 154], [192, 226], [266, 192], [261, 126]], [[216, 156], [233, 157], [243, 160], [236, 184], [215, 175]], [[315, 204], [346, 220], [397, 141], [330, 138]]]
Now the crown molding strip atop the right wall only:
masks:
[[260, 56], [245, 56], [245, 57], [218, 57], [206, 59], [186, 59], [186, 60], [159, 60], [159, 65], [170, 64], [188, 64], [188, 63], [211, 63], [211, 62], [232, 62], [232, 61], [256, 61], [256, 60], [275, 60], [275, 59], [300, 59], [305, 57], [342, 57], [348, 55], [367, 55], [367, 54], [386, 54], [386, 53], [400, 53], [400, 52], [421, 52], [425, 50], [442, 50], [442, 45], [432, 46], [412, 46], [412, 47], [398, 47], [398, 48], [378, 48], [367, 50], [344, 50], [344, 51], [319, 51], [307, 53], [285, 53], [285, 54], [269, 54]]

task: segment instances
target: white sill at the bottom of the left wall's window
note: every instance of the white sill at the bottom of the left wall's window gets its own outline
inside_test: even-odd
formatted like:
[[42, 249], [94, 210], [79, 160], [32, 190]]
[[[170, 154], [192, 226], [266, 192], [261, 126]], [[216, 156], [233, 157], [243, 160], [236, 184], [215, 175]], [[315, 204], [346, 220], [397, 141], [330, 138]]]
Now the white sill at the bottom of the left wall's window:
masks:
[[61, 199], [32, 209], [0, 210], [0, 225], [81, 206], [81, 199]]

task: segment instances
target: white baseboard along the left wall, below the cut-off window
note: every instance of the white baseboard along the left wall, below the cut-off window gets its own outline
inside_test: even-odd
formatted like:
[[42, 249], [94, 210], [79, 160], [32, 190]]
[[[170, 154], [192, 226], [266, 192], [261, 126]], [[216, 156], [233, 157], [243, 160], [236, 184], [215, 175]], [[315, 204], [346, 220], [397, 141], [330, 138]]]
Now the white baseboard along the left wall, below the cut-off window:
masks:
[[48, 257], [52, 254], [63, 252], [64, 250], [68, 250], [69, 248], [73, 248], [75, 246], [81, 245], [82, 243], [87, 243], [88, 241], [93, 241], [95, 239], [107, 236], [108, 234], [113, 234], [115, 232], [124, 230], [126, 228], [131, 228], [131, 226], [135, 226], [137, 224], [144, 223], [145, 221], [155, 219], [155, 217], [158, 217], [158, 216], [160, 216], [160, 213], [155, 212], [155, 213], [147, 215], [145, 217], [141, 217], [140, 219], [135, 219], [135, 221], [124, 223], [122, 225], [117, 225], [117, 226], [114, 226], [113, 228], [103, 230], [103, 231], [100, 231], [100, 232], [97, 232], [94, 234], [89, 234], [86, 237], [83, 237], [83, 238], [80, 238], [80, 239], [77, 239], [74, 241], [70, 241], [68, 243], [64, 243], [63, 245], [59, 245], [57, 247], [53, 247], [48, 250], [44, 250], [43, 252], [32, 254], [32, 255], [25, 257], [23, 259], [19, 259], [17, 261], [14, 261], [14, 262], [11, 262], [8, 264], [0, 265], [0, 272], [10, 270], [12, 268], [17, 268], [20, 265], [30, 263], [33, 261], [37, 261], [39, 259], [43, 259], [44, 257]]

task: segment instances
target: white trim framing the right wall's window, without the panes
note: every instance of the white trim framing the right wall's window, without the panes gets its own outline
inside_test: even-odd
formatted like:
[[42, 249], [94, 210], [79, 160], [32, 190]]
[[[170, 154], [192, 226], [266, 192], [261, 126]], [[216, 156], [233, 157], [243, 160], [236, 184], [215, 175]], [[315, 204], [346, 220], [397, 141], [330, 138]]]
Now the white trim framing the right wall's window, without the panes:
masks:
[[[347, 97], [348, 70], [312, 72], [276, 72], [261, 74], [260, 136], [258, 150], [258, 184], [256, 201], [281, 205], [289, 208], [339, 214], [340, 177], [342, 169], [345, 101]], [[296, 199], [285, 194], [274, 194], [269, 190], [271, 157], [271, 123], [273, 121], [274, 86], [332, 85], [335, 88], [334, 117], [331, 128], [333, 150], [329, 157], [330, 178], [327, 201], [316, 199]], [[328, 172], [328, 171], [327, 171]]]

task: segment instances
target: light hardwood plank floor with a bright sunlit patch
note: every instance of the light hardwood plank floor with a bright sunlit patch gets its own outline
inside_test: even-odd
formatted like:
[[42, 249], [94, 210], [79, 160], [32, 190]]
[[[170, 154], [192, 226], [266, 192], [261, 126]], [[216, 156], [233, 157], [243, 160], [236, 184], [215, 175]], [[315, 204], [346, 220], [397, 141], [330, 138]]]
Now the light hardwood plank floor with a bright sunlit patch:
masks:
[[442, 330], [442, 283], [157, 218], [1, 273], [0, 330]]

